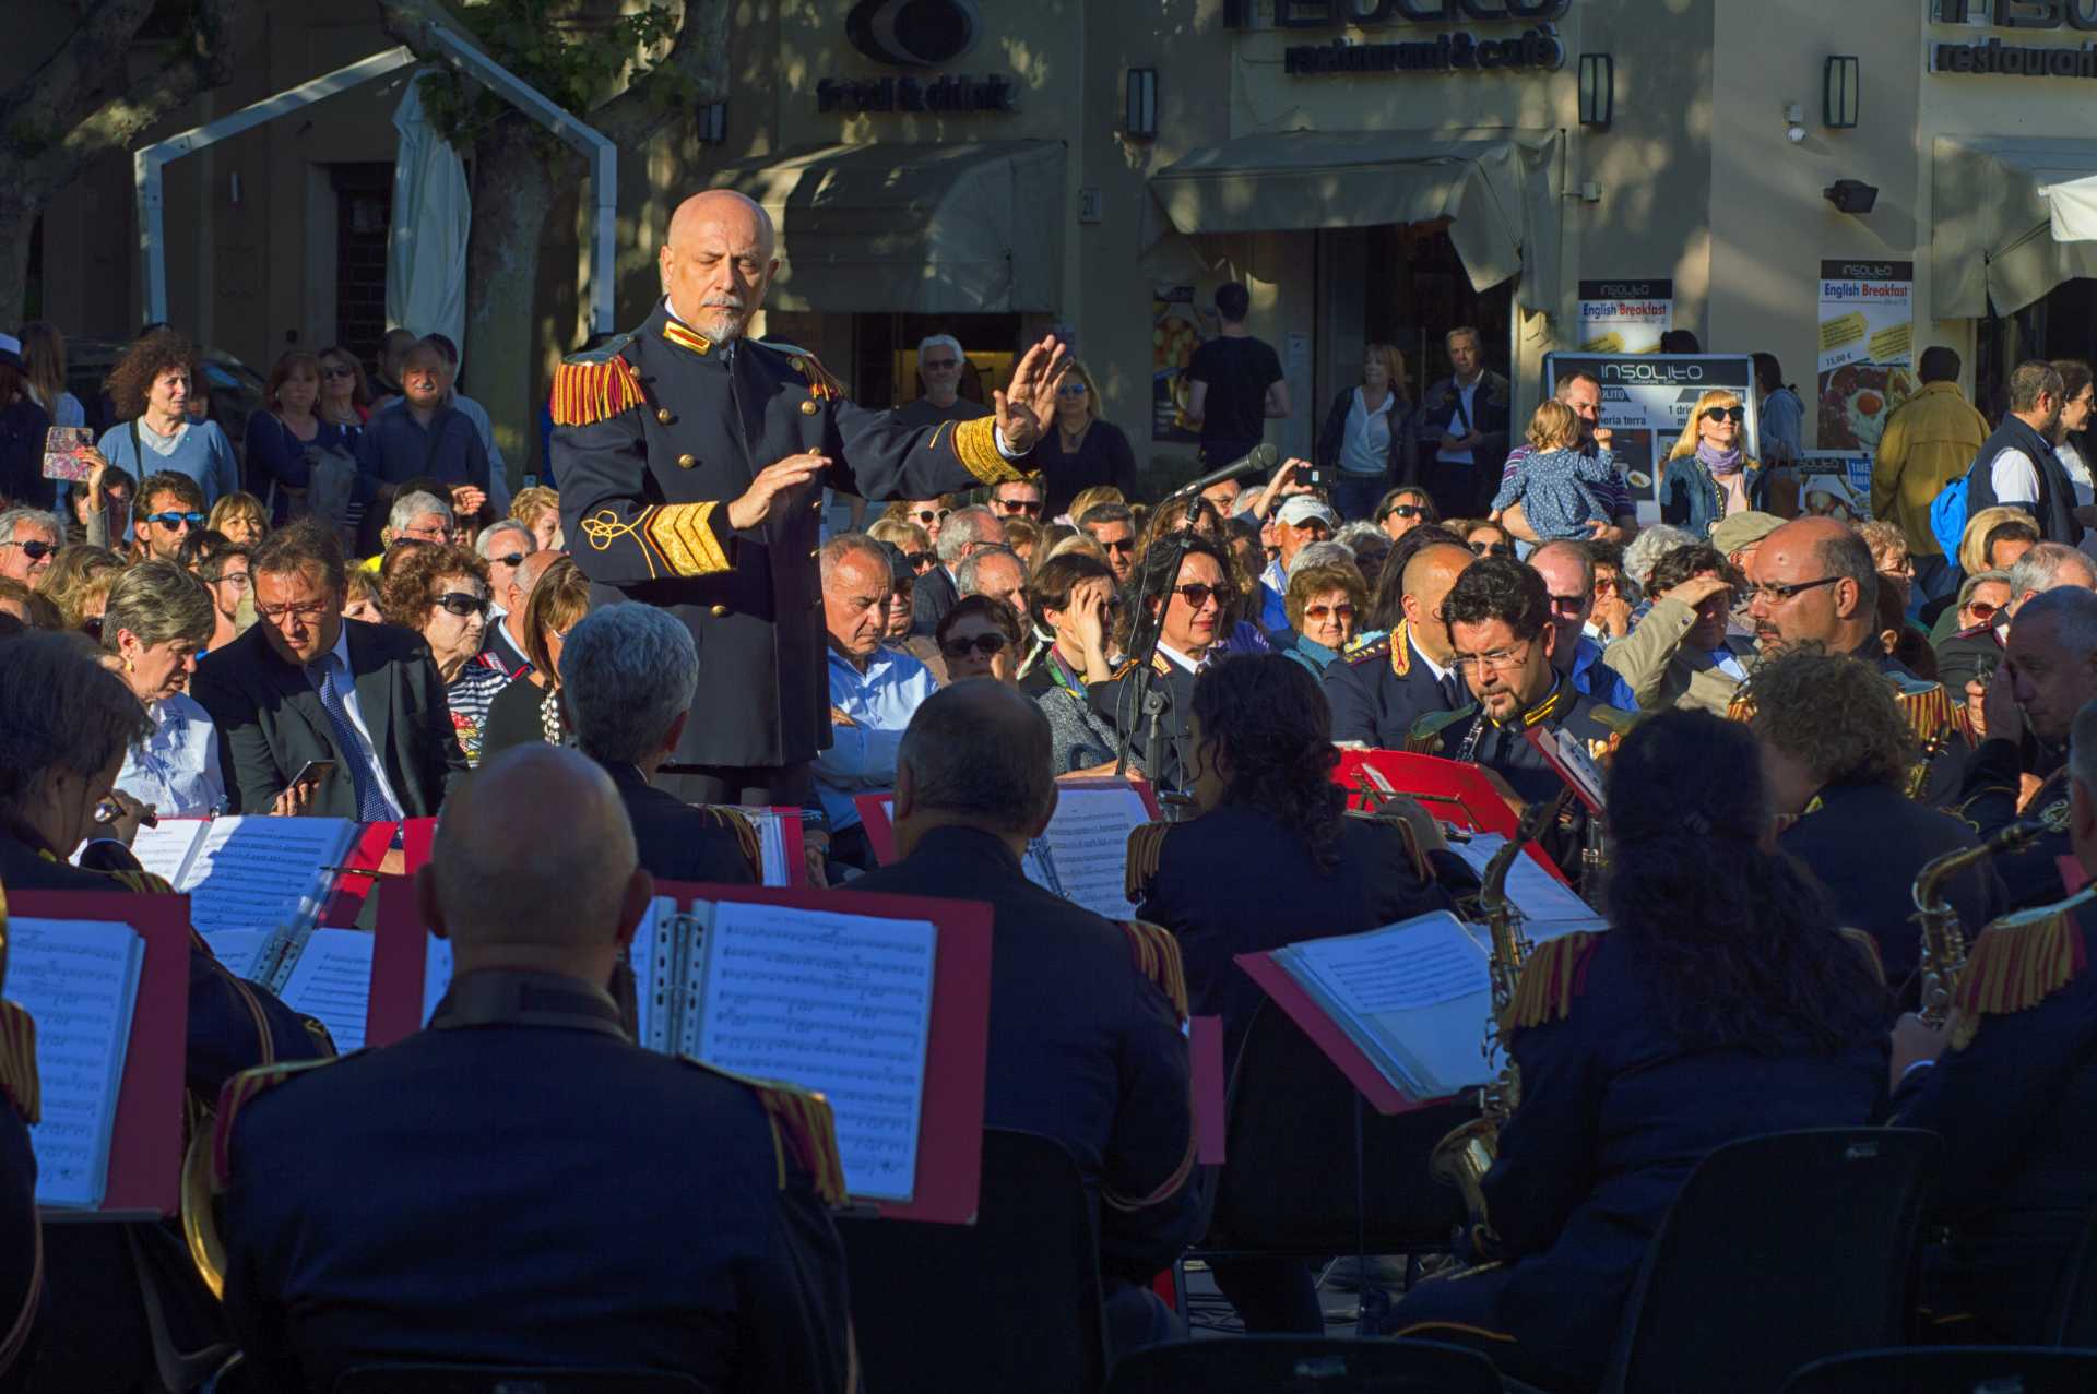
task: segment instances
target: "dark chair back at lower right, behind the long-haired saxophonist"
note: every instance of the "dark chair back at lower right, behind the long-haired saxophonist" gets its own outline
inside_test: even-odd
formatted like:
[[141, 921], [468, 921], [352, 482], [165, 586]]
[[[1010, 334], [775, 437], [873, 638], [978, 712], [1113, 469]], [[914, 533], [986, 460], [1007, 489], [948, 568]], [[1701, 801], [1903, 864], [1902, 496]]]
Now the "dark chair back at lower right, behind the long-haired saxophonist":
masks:
[[1906, 1337], [1940, 1142], [1808, 1128], [1728, 1142], [1669, 1207], [1625, 1302], [1608, 1394], [1768, 1394]]

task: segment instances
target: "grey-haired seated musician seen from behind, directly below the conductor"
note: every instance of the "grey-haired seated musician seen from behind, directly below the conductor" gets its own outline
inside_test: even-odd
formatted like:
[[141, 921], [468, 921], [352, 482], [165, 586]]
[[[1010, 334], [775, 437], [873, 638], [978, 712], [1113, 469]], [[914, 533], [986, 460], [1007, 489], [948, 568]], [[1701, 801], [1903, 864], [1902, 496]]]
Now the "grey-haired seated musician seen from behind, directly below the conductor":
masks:
[[763, 880], [757, 834], [736, 809], [698, 809], [652, 784], [692, 717], [692, 631], [654, 606], [604, 606], [568, 631], [560, 677], [575, 744], [612, 776], [642, 870], [663, 880]]

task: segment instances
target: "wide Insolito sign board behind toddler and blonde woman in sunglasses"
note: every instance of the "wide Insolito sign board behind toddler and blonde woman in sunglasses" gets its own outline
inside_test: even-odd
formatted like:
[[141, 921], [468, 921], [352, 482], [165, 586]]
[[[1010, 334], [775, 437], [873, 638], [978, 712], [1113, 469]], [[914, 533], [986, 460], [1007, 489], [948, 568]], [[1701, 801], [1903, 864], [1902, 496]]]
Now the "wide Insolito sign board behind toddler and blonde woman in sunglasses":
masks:
[[[1682, 440], [1705, 392], [1728, 392], [1747, 409], [1743, 449], [1759, 455], [1755, 363], [1747, 354], [1543, 354], [1543, 390], [1587, 373], [1602, 384], [1598, 430], [1610, 432], [1610, 455], [1638, 503], [1640, 522], [1661, 520], [1667, 455]], [[1516, 430], [1516, 434], [1520, 434]]]

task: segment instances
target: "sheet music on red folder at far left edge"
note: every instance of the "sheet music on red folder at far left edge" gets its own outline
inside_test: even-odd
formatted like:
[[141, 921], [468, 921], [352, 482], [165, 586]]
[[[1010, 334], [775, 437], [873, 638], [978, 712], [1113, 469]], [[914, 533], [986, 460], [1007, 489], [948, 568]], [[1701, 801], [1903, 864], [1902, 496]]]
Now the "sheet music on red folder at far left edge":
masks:
[[44, 1121], [29, 1130], [36, 1203], [94, 1210], [109, 1189], [145, 939], [101, 920], [17, 918], [6, 935], [6, 996], [36, 1017], [44, 1094]]

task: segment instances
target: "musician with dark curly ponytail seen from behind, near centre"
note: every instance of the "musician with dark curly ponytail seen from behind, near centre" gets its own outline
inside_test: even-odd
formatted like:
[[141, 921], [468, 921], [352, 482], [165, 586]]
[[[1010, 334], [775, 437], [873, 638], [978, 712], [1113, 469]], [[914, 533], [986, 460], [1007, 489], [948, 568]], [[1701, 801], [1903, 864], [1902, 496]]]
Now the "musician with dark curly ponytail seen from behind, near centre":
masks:
[[[1229, 1067], [1264, 1000], [1237, 954], [1449, 910], [1439, 870], [1460, 889], [1476, 880], [1441, 847], [1432, 820], [1413, 832], [1346, 815], [1346, 790], [1332, 780], [1332, 713], [1300, 662], [1258, 654], [1206, 669], [1193, 685], [1189, 746], [1199, 818], [1139, 830], [1128, 883], [1137, 918], [1181, 943], [1189, 1010], [1223, 1017]], [[1214, 1268], [1248, 1331], [1325, 1329], [1302, 1264]]]

